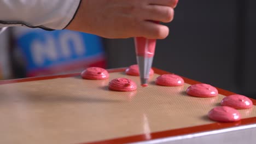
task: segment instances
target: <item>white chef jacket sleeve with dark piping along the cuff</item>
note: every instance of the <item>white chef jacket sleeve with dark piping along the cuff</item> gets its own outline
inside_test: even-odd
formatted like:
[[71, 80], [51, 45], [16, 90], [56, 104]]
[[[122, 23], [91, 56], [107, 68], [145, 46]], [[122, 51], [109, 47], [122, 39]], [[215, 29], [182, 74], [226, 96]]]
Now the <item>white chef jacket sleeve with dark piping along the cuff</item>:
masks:
[[82, 0], [1, 0], [0, 28], [26, 26], [64, 29], [73, 20]]

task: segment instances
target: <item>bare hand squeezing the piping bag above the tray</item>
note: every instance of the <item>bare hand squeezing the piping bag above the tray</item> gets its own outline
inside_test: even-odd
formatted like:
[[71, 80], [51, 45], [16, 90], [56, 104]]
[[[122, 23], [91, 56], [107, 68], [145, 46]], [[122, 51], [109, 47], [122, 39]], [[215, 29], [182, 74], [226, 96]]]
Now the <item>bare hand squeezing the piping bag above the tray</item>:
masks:
[[104, 38], [164, 39], [178, 0], [82, 0], [67, 29]]

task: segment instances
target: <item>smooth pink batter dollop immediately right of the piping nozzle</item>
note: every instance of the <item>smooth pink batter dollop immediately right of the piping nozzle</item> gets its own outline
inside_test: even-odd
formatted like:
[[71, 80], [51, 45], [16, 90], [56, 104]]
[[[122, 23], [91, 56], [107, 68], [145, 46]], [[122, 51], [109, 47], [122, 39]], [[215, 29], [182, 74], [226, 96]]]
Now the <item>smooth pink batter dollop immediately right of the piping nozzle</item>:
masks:
[[178, 75], [165, 74], [156, 78], [155, 83], [160, 86], [182, 86], [184, 85], [184, 80]]

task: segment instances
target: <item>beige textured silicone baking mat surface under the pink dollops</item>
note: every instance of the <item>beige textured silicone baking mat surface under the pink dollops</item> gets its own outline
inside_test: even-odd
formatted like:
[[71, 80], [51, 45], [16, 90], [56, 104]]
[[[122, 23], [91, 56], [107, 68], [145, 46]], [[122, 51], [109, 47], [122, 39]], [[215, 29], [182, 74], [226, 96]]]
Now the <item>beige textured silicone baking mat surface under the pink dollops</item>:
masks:
[[[148, 87], [123, 69], [107, 80], [72, 76], [0, 85], [0, 143], [86, 143], [141, 134], [149, 140], [158, 131], [216, 123], [207, 113], [224, 95], [190, 97], [188, 83], [157, 86], [158, 76]], [[119, 77], [135, 81], [137, 91], [109, 91], [108, 82]], [[256, 117], [256, 106], [238, 111], [242, 118]]]

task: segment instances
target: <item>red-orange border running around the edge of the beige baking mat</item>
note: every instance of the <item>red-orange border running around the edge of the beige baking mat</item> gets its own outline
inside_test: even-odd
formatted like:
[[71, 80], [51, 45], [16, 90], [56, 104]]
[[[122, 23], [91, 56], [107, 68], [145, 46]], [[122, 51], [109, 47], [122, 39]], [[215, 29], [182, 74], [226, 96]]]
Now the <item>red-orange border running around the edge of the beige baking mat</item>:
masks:
[[[125, 69], [126, 68], [108, 69], [108, 72], [109, 73], [121, 72], [121, 71], [124, 71]], [[159, 74], [159, 75], [171, 74], [167, 71], [160, 70], [157, 68], [153, 68], [153, 69], [154, 69], [155, 73]], [[80, 73], [75, 73], [75, 74], [66, 74], [66, 75], [30, 77], [30, 78], [25, 78], [25, 79], [3, 80], [3, 81], [0, 81], [0, 85], [4, 85], [4, 84], [8, 84], [8, 83], [16, 83], [16, 82], [27, 82], [27, 81], [38, 81], [38, 80], [48, 80], [48, 79], [56, 79], [56, 78], [63, 78], [63, 77], [72, 77], [72, 76], [79, 76], [79, 75], [80, 75]], [[185, 83], [189, 83], [190, 85], [200, 83], [198, 81], [194, 81], [194, 80], [188, 79], [186, 77], [182, 77], [182, 78], [184, 79]], [[218, 89], [218, 92], [222, 95], [235, 94], [235, 93], [226, 91], [221, 88], [217, 88], [217, 89]], [[251, 100], [253, 101], [253, 105], [256, 105], [256, 100], [255, 99], [251, 99]], [[234, 126], [238, 126], [238, 125], [246, 125], [246, 124], [253, 124], [253, 123], [256, 123], [256, 117], [241, 119], [241, 121], [234, 122], [234, 123], [212, 123], [212, 124], [199, 125], [199, 126], [195, 126], [195, 127], [159, 131], [159, 132], [155, 132], [155, 133], [150, 133], [150, 136], [151, 136], [150, 139], [147, 139], [147, 136], [141, 134], [141, 135], [119, 137], [117, 139], [102, 140], [102, 141], [89, 142], [89, 143], [90, 144], [98, 144], [98, 143], [138, 142], [138, 141], [160, 139], [160, 138], [170, 137], [170, 136], [177, 136], [177, 135], [184, 135], [184, 134], [191, 134], [191, 133], [200, 133], [202, 131], [218, 130], [218, 129], [229, 128], [229, 127], [234, 127]]]

